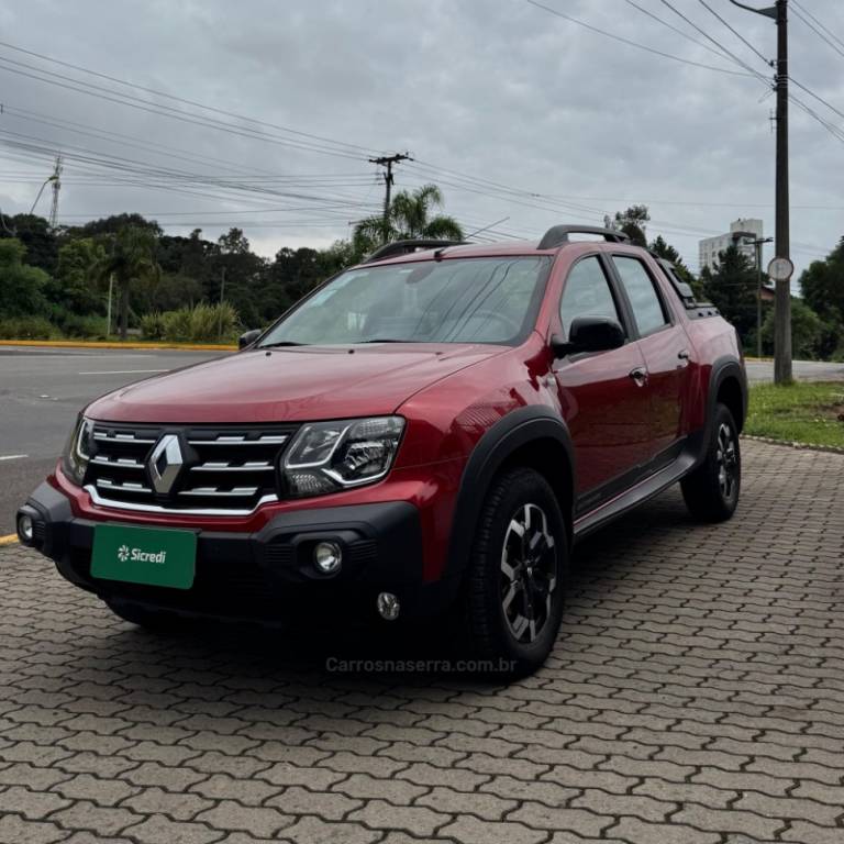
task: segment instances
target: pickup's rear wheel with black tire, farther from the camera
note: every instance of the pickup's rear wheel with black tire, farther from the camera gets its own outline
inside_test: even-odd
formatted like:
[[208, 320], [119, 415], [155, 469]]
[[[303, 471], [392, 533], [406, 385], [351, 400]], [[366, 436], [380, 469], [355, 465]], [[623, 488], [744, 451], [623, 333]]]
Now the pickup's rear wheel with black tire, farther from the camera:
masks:
[[712, 433], [703, 463], [680, 481], [689, 512], [703, 522], [723, 522], [738, 506], [742, 453], [730, 409], [715, 404]]

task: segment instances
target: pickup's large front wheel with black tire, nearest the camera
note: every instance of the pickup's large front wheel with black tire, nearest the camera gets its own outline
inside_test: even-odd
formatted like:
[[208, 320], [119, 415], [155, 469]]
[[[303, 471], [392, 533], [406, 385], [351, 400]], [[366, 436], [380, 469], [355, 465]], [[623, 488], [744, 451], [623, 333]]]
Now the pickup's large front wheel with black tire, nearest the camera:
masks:
[[484, 502], [460, 608], [470, 656], [491, 663], [482, 673], [523, 677], [545, 662], [567, 576], [566, 525], [554, 490], [532, 469], [500, 475]]

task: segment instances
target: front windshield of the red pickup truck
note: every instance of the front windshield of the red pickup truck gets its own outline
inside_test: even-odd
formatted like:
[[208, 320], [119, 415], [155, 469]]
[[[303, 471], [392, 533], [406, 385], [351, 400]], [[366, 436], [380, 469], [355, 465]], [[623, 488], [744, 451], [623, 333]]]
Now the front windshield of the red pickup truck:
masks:
[[549, 266], [536, 256], [351, 269], [274, 325], [260, 346], [519, 343], [533, 327]]

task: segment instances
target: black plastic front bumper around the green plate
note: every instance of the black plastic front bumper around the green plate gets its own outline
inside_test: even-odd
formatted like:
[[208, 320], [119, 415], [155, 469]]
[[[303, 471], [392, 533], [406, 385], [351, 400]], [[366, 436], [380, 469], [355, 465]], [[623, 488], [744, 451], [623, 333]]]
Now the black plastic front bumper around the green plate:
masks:
[[[300, 612], [376, 618], [381, 591], [398, 596], [402, 617], [427, 614], [436, 604], [435, 585], [423, 584], [419, 511], [407, 501], [280, 513], [253, 533], [197, 529], [196, 578], [188, 590], [93, 578], [98, 522], [74, 515], [67, 497], [48, 484], [30, 496], [21, 514], [33, 521], [26, 544], [52, 558], [71, 584], [113, 603], [267, 622]], [[320, 575], [312, 564], [321, 540], [343, 551], [334, 576]]]

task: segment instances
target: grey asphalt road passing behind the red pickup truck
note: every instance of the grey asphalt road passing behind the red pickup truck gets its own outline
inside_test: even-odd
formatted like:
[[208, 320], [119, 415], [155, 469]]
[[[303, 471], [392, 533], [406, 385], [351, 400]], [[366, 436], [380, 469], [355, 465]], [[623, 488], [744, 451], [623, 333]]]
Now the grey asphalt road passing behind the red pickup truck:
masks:
[[[91, 399], [219, 353], [0, 347], [0, 536], [14, 511], [62, 453], [80, 408]], [[769, 362], [748, 362], [752, 381], [771, 380]], [[844, 365], [795, 362], [808, 380], [844, 380]]]

